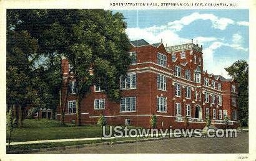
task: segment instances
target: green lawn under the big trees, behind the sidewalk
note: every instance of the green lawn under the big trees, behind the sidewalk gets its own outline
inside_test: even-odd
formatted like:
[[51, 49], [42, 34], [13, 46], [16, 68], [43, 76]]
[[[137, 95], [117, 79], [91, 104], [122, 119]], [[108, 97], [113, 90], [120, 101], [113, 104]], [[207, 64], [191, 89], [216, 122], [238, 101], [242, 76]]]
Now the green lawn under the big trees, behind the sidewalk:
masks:
[[[74, 124], [66, 124], [66, 126], [60, 126], [59, 121], [51, 119], [25, 119], [23, 125], [23, 128], [12, 132], [11, 142], [101, 136], [101, 127], [97, 125], [77, 127]], [[107, 128], [108, 133], [109, 128]]]

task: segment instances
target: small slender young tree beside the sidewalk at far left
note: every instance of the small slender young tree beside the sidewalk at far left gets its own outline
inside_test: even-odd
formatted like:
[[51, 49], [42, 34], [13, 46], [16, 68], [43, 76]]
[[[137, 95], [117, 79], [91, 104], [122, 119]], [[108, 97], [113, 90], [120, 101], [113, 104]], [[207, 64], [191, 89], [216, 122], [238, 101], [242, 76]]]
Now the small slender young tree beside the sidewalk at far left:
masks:
[[8, 136], [8, 149], [10, 148], [10, 142], [11, 142], [11, 133], [14, 131], [16, 127], [16, 120], [13, 116], [12, 108], [9, 109], [6, 115], [6, 133]]

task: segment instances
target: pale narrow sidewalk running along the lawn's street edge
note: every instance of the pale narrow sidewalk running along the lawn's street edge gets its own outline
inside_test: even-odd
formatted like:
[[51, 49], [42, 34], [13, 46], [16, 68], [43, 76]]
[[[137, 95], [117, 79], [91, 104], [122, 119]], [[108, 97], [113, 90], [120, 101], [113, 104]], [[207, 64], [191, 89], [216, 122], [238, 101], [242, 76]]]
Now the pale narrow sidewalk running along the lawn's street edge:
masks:
[[[247, 132], [249, 131], [248, 129], [243, 129], [242, 131], [237, 131], [237, 132]], [[174, 133], [171, 133], [172, 136], [174, 135]], [[180, 132], [175, 132], [175, 134], [182, 134]], [[195, 132], [193, 132], [192, 134], [195, 134]], [[202, 134], [207, 134], [207, 132], [202, 132]], [[144, 135], [144, 137], [148, 137], [150, 138], [152, 135]], [[155, 136], [155, 134], [154, 134]], [[158, 136], [161, 136], [161, 134], [158, 134]], [[170, 133], [163, 135], [163, 137], [166, 136], [170, 136]], [[134, 136], [126, 136], [126, 138], [129, 137], [134, 137]], [[136, 136], [136, 137], [140, 137], [140, 135]], [[143, 137], [143, 136], [142, 136]], [[107, 139], [115, 139], [117, 137], [102, 137], [102, 140], [107, 140]], [[121, 137], [119, 137], [121, 138]], [[124, 138], [124, 137], [122, 137]], [[135, 138], [135, 137], [134, 137]], [[154, 137], [151, 137], [154, 138]], [[160, 138], [160, 137], [158, 137]], [[34, 140], [34, 141], [26, 141], [26, 142], [11, 142], [10, 145], [22, 145], [22, 144], [40, 144], [40, 143], [49, 143], [49, 142], [72, 142], [72, 141], [82, 141], [82, 140], [101, 140], [101, 137], [91, 137], [91, 138], [80, 138], [80, 139], [54, 139], [54, 140]], [[6, 143], [6, 145], [8, 145], [8, 143]]]

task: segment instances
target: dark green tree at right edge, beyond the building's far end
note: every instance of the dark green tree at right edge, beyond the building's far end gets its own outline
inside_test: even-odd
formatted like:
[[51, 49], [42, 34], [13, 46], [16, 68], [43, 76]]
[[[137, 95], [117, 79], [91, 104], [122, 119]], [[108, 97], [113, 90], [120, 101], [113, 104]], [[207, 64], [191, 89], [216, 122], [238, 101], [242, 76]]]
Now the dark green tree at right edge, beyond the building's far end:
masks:
[[243, 126], [247, 126], [249, 118], [249, 65], [245, 60], [237, 60], [225, 70], [238, 83], [239, 119]]

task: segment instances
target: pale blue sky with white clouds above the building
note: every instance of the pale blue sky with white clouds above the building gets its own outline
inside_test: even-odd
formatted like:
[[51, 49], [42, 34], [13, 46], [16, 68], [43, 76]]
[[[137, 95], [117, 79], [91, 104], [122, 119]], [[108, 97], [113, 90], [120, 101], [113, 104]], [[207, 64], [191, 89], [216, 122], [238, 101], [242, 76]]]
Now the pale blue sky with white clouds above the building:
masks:
[[[114, 11], [117, 12], [117, 11]], [[204, 70], [226, 77], [225, 67], [249, 59], [249, 10], [122, 10], [130, 40], [167, 46], [198, 40]]]

